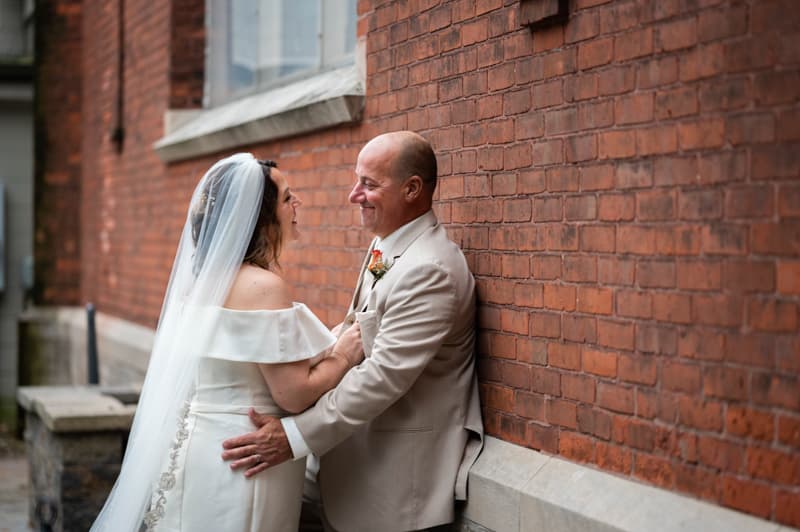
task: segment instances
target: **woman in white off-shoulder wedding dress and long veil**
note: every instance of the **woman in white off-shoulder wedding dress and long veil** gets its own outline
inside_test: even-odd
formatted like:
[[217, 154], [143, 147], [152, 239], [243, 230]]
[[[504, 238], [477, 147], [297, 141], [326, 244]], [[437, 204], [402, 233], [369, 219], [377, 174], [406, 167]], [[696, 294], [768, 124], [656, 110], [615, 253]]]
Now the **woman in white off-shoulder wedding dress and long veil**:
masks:
[[302, 411], [363, 358], [357, 325], [337, 340], [275, 273], [299, 205], [275, 163], [250, 154], [200, 180], [120, 475], [93, 531], [297, 530], [305, 460], [247, 478], [220, 449], [252, 430], [251, 406]]

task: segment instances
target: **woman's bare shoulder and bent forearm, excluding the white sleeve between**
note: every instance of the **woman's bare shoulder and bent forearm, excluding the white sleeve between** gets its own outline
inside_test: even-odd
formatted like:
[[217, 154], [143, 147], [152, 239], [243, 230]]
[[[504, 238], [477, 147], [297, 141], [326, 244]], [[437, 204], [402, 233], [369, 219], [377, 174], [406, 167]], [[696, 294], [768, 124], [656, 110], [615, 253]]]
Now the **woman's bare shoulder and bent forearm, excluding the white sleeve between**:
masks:
[[[279, 310], [290, 308], [292, 298], [288, 285], [279, 276], [245, 265], [231, 287], [225, 306], [236, 310]], [[336, 386], [363, 358], [361, 332], [356, 324], [341, 334], [322, 360], [259, 364], [259, 369], [278, 406], [296, 413]]]

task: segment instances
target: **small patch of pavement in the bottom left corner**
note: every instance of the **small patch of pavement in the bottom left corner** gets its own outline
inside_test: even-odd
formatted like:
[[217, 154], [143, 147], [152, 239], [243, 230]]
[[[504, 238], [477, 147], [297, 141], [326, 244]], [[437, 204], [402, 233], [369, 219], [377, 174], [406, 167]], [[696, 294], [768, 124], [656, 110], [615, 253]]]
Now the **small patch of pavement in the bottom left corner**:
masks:
[[0, 426], [0, 532], [32, 532], [28, 525], [29, 484], [25, 444]]

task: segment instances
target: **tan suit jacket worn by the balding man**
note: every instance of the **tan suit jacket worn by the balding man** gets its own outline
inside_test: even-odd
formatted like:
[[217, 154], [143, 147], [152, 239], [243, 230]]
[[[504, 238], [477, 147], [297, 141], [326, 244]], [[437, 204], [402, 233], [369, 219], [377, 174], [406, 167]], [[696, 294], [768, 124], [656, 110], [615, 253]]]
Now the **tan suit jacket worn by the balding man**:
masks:
[[423, 216], [417, 231], [384, 250], [394, 262], [366, 310], [353, 308], [358, 290], [353, 297], [345, 321], [361, 323], [367, 358], [295, 418], [321, 456], [323, 508], [342, 532], [452, 521], [482, 445], [475, 283], [433, 213]]

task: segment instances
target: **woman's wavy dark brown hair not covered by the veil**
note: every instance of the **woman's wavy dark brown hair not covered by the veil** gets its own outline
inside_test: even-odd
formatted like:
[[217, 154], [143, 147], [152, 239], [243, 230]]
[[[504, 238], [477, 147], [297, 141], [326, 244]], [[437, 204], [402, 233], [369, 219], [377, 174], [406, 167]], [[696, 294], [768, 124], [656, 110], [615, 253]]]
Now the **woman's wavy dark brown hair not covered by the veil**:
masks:
[[261, 198], [261, 209], [258, 211], [253, 236], [247, 245], [244, 262], [260, 266], [265, 270], [273, 265], [280, 266], [278, 257], [283, 247], [283, 232], [278, 221], [278, 185], [272, 180], [272, 168], [278, 163], [269, 159], [258, 161], [264, 174], [264, 195]]

